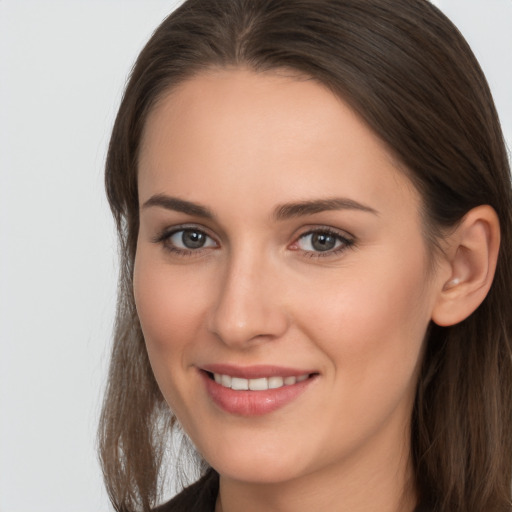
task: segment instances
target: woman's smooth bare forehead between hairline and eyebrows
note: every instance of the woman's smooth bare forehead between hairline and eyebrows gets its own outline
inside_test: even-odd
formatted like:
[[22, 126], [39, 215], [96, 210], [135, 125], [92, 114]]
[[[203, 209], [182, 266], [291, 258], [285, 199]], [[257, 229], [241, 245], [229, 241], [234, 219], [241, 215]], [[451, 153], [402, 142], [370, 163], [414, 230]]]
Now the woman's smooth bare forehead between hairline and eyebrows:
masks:
[[284, 71], [216, 70], [183, 82], [156, 104], [141, 145], [141, 201], [236, 194], [270, 207], [336, 193], [383, 207], [397, 190], [417, 201], [392, 153], [353, 110], [317, 81]]

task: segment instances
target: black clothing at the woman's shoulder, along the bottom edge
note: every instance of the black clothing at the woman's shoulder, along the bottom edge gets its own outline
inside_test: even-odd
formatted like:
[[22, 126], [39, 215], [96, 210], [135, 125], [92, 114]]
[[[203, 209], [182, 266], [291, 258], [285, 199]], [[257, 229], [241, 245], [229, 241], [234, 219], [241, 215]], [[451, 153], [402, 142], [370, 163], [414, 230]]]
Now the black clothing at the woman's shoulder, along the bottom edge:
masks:
[[[219, 475], [210, 469], [195, 484], [183, 489], [171, 501], [156, 508], [154, 512], [214, 512], [219, 493]], [[414, 512], [429, 512], [420, 505]]]

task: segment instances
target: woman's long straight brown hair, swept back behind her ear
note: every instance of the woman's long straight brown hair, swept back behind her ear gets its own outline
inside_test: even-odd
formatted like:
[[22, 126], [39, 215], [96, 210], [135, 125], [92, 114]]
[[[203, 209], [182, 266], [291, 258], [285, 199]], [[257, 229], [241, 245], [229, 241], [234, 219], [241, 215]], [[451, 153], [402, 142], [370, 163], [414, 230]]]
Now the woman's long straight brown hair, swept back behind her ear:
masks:
[[148, 511], [157, 500], [173, 424], [132, 292], [141, 134], [163, 92], [226, 66], [291, 68], [348, 102], [421, 193], [431, 247], [471, 208], [496, 210], [502, 242], [494, 283], [465, 321], [430, 326], [411, 436], [415, 483], [435, 511], [510, 511], [510, 169], [485, 77], [458, 30], [426, 0], [188, 0], [141, 52], [106, 162], [121, 270], [99, 442], [116, 510]]

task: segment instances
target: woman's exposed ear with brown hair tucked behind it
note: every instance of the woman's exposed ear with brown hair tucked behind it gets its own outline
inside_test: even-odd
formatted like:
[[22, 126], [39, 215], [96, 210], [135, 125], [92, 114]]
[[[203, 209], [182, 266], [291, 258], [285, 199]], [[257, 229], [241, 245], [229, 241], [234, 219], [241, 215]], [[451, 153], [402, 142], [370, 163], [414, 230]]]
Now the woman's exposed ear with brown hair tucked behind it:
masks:
[[470, 210], [447, 244], [432, 311], [432, 320], [441, 326], [466, 319], [491, 287], [500, 247], [500, 224], [494, 209], [484, 205]]

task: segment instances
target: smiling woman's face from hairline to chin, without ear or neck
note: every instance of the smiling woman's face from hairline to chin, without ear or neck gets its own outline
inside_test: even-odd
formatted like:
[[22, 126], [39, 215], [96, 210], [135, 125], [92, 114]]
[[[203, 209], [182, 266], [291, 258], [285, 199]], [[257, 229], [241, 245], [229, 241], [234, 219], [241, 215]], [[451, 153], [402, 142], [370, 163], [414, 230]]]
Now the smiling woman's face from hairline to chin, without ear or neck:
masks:
[[148, 118], [139, 197], [149, 358], [215, 469], [407, 462], [439, 279], [417, 192], [345, 103], [285, 72], [196, 76]]

